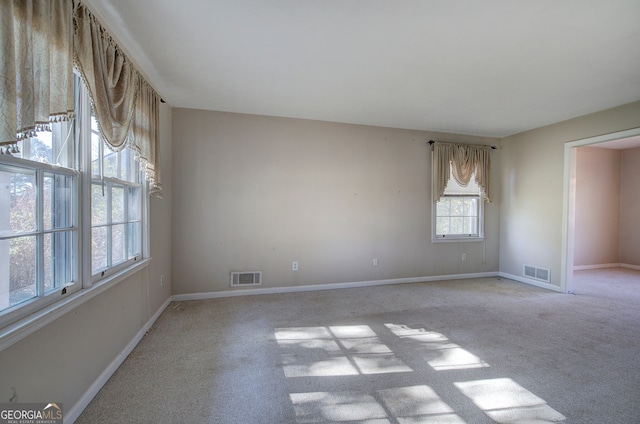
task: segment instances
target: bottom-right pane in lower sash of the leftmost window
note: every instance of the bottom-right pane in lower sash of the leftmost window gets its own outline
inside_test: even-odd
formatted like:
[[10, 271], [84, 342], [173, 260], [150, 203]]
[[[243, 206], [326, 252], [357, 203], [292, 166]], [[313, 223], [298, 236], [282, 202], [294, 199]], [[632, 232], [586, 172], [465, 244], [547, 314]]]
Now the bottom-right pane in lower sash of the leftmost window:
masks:
[[73, 281], [73, 231], [44, 235], [44, 290], [63, 287]]

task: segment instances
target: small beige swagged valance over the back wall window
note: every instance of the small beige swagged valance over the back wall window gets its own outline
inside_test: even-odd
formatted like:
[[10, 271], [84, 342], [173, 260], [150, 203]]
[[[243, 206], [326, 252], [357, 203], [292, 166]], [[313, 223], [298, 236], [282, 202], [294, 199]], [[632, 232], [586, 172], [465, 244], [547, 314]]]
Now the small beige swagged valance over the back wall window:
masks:
[[451, 175], [463, 187], [475, 175], [482, 197], [491, 203], [491, 146], [435, 142], [433, 167], [434, 201], [444, 194]]

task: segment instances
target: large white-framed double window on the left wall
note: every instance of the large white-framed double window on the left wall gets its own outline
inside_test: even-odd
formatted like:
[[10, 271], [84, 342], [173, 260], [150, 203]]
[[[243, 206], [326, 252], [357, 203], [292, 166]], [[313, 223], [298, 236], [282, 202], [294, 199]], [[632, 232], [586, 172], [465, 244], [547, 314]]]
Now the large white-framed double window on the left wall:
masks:
[[73, 121], [0, 155], [0, 328], [143, 257], [140, 165], [104, 142], [78, 77], [75, 90]]

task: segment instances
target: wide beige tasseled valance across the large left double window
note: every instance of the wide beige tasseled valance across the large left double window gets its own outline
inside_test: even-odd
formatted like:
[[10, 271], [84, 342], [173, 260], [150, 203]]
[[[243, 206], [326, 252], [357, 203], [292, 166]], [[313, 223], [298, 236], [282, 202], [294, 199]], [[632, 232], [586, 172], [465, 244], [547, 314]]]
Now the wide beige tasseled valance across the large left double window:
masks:
[[130, 147], [161, 197], [160, 97], [77, 0], [0, 1], [0, 153], [73, 117], [74, 64], [105, 142]]

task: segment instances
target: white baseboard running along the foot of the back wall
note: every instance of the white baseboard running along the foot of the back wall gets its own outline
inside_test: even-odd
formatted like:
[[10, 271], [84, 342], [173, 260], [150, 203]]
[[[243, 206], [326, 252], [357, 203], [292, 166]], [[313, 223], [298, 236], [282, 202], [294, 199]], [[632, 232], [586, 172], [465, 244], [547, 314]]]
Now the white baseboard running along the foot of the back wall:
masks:
[[465, 278], [484, 278], [484, 277], [497, 277], [497, 272], [477, 272], [471, 274], [452, 274], [452, 275], [435, 275], [429, 277], [410, 277], [410, 278], [392, 278], [388, 280], [372, 280], [372, 281], [354, 281], [349, 283], [332, 283], [332, 284], [312, 284], [308, 286], [292, 286], [292, 287], [269, 287], [261, 289], [240, 289], [240, 290], [225, 290], [215, 292], [204, 293], [185, 293], [173, 295], [173, 301], [183, 300], [204, 300], [204, 299], [218, 299], [223, 297], [235, 297], [235, 296], [255, 296], [261, 294], [282, 294], [282, 293], [298, 293], [309, 292], [318, 290], [335, 290], [335, 289], [350, 289], [358, 287], [373, 287], [390, 284], [409, 284], [409, 283], [422, 283], [429, 281], [443, 281], [443, 280], [462, 280]]

